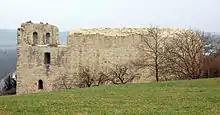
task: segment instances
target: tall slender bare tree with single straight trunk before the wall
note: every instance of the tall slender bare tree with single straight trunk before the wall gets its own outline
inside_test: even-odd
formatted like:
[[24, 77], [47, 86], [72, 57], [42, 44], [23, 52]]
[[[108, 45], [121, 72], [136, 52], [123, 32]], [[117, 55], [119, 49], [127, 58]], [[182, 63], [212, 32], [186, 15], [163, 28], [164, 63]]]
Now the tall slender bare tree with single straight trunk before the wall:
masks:
[[162, 77], [164, 65], [164, 47], [166, 37], [163, 36], [163, 31], [157, 27], [151, 27], [147, 33], [141, 34], [141, 45], [138, 48], [141, 50], [141, 58], [136, 60], [134, 64], [140, 68], [148, 68], [150, 76], [154, 74], [156, 81]]

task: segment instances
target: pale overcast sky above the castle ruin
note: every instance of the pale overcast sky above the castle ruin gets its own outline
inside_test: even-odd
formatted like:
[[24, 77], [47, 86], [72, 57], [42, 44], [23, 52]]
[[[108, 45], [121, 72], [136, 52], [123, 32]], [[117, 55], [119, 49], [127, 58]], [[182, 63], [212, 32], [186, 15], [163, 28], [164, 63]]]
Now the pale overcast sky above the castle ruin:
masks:
[[219, 6], [220, 0], [0, 0], [0, 28], [32, 20], [60, 31], [158, 25], [220, 32]]

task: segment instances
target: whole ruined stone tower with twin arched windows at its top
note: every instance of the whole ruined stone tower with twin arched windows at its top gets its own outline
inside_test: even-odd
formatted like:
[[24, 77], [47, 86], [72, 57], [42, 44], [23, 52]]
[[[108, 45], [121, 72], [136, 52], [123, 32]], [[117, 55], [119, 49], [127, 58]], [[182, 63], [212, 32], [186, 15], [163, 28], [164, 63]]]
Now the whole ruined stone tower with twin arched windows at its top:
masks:
[[48, 23], [22, 23], [17, 30], [17, 94], [53, 90], [62, 71], [59, 30]]

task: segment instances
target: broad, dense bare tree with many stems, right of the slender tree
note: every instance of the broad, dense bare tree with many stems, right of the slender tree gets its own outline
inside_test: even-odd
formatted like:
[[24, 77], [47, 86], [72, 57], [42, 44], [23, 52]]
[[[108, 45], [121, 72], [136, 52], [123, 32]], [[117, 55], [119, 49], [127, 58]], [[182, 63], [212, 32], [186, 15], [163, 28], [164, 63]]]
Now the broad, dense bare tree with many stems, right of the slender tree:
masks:
[[203, 69], [204, 39], [199, 32], [192, 30], [181, 31], [170, 38], [166, 45], [166, 71], [178, 79], [197, 79]]

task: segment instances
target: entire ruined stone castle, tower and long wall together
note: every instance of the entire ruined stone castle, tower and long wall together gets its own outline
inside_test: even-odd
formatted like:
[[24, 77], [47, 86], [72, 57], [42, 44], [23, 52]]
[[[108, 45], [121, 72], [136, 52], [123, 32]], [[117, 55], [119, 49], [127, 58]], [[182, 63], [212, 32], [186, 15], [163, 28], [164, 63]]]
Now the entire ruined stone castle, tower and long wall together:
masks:
[[[138, 59], [136, 47], [148, 28], [81, 29], [68, 33], [67, 44], [59, 44], [59, 30], [44, 23], [22, 23], [17, 30], [17, 94], [53, 91], [62, 75], [77, 82], [80, 67], [107, 70], [114, 64], [126, 64]], [[171, 35], [179, 29], [163, 29]], [[143, 70], [134, 82], [152, 81]]]

